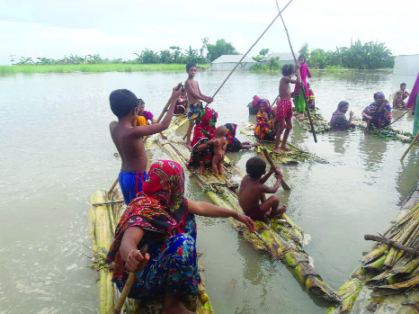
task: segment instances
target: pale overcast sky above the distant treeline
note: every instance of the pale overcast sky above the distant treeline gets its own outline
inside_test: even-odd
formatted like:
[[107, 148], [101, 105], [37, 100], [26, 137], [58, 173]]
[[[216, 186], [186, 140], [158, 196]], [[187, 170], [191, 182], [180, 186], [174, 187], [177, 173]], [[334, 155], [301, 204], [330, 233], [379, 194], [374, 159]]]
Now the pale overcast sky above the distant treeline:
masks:
[[[280, 8], [289, 0], [278, 0]], [[398, 5], [400, 4], [400, 5]], [[0, 0], [0, 65], [20, 58], [99, 54], [134, 59], [143, 49], [201, 49], [202, 39], [231, 42], [245, 53], [278, 13], [275, 0]], [[396, 55], [419, 53], [417, 0], [293, 0], [282, 13], [297, 53], [349, 47], [351, 40], [386, 43]], [[278, 18], [260, 49], [290, 52]]]

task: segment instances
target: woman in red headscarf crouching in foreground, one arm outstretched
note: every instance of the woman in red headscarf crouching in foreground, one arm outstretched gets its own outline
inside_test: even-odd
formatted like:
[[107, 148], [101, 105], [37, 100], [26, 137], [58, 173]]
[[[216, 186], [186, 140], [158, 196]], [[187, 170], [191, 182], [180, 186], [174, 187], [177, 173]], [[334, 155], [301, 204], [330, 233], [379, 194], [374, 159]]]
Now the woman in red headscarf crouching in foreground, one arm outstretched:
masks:
[[[194, 214], [232, 217], [254, 231], [249, 217], [187, 200], [183, 193], [184, 175], [178, 163], [159, 160], [151, 165], [143, 194], [124, 211], [106, 257], [108, 263], [114, 261], [112, 282], [120, 291], [128, 272], [137, 273], [129, 297], [144, 300], [164, 295], [165, 313], [192, 313], [180, 307], [179, 297], [196, 293], [200, 283]], [[148, 250], [142, 256], [138, 248], [144, 245]]]

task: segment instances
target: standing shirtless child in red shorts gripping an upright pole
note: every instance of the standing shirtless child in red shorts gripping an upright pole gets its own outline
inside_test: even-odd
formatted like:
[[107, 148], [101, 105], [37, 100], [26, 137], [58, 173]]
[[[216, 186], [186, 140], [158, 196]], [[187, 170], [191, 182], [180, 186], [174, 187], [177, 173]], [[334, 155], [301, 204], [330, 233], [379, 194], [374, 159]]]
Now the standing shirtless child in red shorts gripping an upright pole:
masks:
[[[297, 79], [292, 79], [291, 77], [294, 76], [294, 72], [297, 75]], [[295, 70], [292, 65], [285, 65], [282, 67], [282, 75], [280, 81], [280, 100], [278, 101], [277, 109], [276, 109], [276, 121], [279, 124], [278, 132], [276, 133], [275, 139], [275, 148], [273, 152], [280, 154], [281, 150], [290, 151], [290, 148], [286, 147], [288, 136], [290, 135], [290, 130], [292, 129], [292, 103], [291, 103], [291, 95], [295, 92], [291, 93], [290, 90], [290, 83], [292, 84], [301, 84], [301, 76], [299, 75], [299, 62], [295, 65]], [[285, 123], [287, 123], [287, 127], [284, 132], [284, 137], [282, 139], [281, 148], [280, 140], [282, 131], [285, 128]], [[281, 149], [281, 150], [280, 150]]]

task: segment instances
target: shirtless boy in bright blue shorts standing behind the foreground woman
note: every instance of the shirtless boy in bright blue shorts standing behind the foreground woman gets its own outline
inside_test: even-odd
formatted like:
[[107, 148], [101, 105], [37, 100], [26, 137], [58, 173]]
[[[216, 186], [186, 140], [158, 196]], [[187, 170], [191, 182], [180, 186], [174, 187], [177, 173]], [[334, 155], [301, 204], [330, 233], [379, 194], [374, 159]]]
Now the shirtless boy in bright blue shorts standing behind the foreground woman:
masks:
[[142, 184], [147, 179], [147, 155], [142, 137], [169, 127], [174, 114], [174, 103], [181, 93], [175, 89], [176, 87], [173, 89], [172, 101], [163, 121], [144, 127], [132, 126], [138, 118], [138, 98], [135, 94], [128, 89], [117, 89], [109, 96], [111, 111], [118, 117], [118, 121], [111, 122], [109, 129], [122, 160], [119, 181], [127, 205], [142, 190]]

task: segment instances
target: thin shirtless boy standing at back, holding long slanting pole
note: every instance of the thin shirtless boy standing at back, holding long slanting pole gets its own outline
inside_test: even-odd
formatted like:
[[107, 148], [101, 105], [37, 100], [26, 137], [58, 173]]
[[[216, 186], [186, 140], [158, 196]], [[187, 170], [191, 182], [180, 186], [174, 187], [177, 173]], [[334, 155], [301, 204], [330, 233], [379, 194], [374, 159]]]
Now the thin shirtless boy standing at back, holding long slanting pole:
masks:
[[188, 79], [184, 82], [186, 88], [186, 94], [188, 95], [188, 120], [189, 127], [188, 132], [186, 133], [186, 144], [187, 148], [192, 148], [191, 146], [191, 134], [193, 129], [193, 124], [196, 119], [200, 116], [202, 110], [202, 103], [212, 103], [212, 97], [206, 96], [201, 93], [200, 85], [197, 81], [193, 80], [193, 77], [196, 75], [196, 65], [194, 63], [188, 63], [186, 65], [186, 73], [188, 73]]

